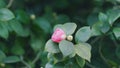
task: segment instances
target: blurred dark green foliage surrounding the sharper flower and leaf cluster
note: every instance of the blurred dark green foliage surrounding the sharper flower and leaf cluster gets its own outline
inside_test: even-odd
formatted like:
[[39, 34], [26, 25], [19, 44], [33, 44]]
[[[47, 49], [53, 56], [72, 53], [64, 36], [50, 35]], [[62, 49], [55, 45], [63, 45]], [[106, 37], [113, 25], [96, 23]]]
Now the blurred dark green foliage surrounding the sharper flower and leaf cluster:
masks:
[[111, 35], [117, 27], [120, 37], [120, 0], [0, 0], [0, 68], [44, 68], [48, 61], [44, 46], [56, 24], [92, 27], [100, 12], [112, 9], [114, 24], [102, 34], [102, 41], [100, 35], [90, 38], [92, 58], [84, 68], [120, 67], [120, 38]]

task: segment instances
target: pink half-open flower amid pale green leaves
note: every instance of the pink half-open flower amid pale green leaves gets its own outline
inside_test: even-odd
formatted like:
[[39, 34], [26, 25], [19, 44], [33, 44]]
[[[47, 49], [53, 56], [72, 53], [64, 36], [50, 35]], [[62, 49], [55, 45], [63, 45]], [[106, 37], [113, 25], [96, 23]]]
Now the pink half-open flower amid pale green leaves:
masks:
[[65, 32], [62, 29], [57, 28], [54, 31], [51, 39], [52, 39], [52, 41], [59, 43], [60, 41], [64, 40], [65, 38], [66, 38]]

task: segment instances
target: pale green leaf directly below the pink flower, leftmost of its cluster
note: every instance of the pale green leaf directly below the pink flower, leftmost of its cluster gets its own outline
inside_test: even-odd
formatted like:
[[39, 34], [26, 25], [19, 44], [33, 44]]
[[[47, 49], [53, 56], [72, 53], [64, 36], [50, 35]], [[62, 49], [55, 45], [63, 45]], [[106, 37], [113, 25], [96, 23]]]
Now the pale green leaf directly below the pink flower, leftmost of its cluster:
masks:
[[47, 41], [45, 45], [45, 50], [50, 52], [50, 53], [59, 53], [59, 46], [57, 43], [53, 42], [51, 39]]

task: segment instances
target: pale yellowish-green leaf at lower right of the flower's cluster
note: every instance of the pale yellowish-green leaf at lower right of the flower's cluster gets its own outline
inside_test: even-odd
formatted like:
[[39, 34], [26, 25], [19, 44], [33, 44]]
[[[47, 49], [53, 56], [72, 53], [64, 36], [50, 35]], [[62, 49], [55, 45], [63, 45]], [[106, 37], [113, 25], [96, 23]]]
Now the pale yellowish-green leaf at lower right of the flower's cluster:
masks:
[[90, 62], [91, 46], [88, 43], [79, 43], [75, 45], [75, 51], [78, 56]]

